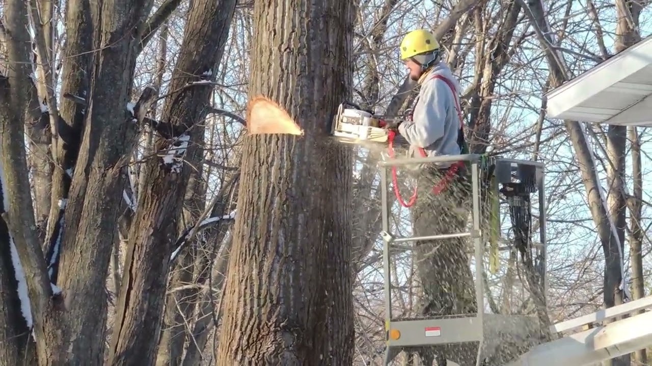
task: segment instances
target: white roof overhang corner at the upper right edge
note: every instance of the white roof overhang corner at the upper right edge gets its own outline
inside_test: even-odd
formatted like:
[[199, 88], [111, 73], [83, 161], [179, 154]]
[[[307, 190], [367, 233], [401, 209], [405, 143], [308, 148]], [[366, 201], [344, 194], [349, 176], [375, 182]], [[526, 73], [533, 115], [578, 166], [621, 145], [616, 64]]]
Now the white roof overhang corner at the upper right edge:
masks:
[[652, 126], [652, 36], [546, 96], [549, 117]]

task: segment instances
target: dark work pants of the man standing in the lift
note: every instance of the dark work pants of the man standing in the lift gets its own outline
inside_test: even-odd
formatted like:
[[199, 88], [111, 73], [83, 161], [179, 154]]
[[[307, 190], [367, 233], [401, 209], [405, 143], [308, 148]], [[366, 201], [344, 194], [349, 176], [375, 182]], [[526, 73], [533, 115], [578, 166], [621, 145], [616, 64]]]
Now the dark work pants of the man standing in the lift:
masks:
[[[458, 176], [439, 194], [432, 188], [445, 171], [430, 167], [417, 176], [419, 197], [411, 210], [413, 234], [430, 236], [468, 232], [471, 212], [471, 185]], [[460, 172], [465, 175], [466, 172]], [[475, 315], [477, 302], [469, 254], [473, 246], [468, 238], [422, 240], [414, 247], [417, 274], [421, 281], [423, 300], [420, 312], [424, 316]], [[451, 359], [460, 366], [474, 366], [478, 343], [463, 343], [424, 348], [422, 362], [430, 366], [437, 359]]]

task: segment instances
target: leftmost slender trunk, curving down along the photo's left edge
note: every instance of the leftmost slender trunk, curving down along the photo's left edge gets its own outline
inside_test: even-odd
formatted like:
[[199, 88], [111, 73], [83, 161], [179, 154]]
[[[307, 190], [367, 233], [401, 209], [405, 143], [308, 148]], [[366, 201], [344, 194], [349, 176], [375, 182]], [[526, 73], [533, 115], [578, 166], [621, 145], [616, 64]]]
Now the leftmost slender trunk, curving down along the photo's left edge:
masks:
[[31, 40], [25, 32], [27, 5], [22, 0], [5, 1], [3, 10], [3, 25], [7, 34], [5, 46], [8, 63], [12, 67], [8, 68], [7, 75], [0, 76], [0, 165], [4, 173], [3, 198], [7, 209], [2, 218], [14, 239], [27, 278], [36, 347], [39, 361], [44, 365], [48, 362], [45, 357], [49, 346], [45, 323], [46, 314], [52, 305], [52, 289], [38, 242], [31, 191], [29, 185], [25, 185], [29, 180], [23, 138], [24, 118], [29, 104], [29, 92], [33, 88], [29, 79]]

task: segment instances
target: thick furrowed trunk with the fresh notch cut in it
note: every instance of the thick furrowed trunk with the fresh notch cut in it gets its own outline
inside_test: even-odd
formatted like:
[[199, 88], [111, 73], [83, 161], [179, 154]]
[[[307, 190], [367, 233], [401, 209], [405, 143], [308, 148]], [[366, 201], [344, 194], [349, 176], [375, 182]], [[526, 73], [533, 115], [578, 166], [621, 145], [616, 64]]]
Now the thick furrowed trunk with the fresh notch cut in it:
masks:
[[218, 365], [351, 365], [351, 156], [325, 139], [351, 85], [348, 0], [254, 3], [250, 97], [304, 137], [245, 139]]

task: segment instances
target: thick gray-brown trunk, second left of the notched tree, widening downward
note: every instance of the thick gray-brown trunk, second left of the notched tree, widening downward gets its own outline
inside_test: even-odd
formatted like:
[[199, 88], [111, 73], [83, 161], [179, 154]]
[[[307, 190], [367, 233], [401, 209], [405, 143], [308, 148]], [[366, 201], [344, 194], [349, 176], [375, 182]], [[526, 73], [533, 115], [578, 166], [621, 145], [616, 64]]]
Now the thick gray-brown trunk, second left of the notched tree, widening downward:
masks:
[[55, 365], [99, 365], [104, 361], [104, 283], [117, 234], [124, 156], [132, 150], [136, 137], [136, 123], [126, 104], [140, 40], [130, 35], [142, 27], [153, 0], [115, 0], [95, 5], [91, 4], [93, 48], [98, 51], [66, 206], [58, 278], [65, 311], [56, 315], [65, 330], [52, 330], [50, 361]]

